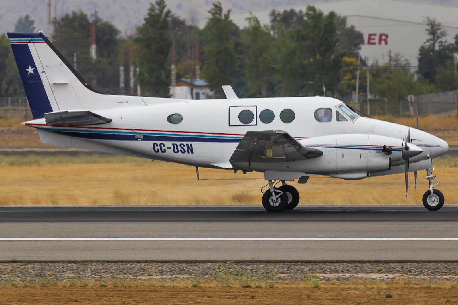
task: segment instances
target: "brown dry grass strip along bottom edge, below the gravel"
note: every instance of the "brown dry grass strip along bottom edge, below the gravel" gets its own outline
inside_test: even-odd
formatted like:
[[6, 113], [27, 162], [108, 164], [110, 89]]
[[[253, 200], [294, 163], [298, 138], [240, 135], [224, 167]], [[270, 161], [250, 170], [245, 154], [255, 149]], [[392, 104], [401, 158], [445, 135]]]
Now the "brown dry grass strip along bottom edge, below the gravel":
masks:
[[[242, 288], [210, 282], [41, 282], [0, 286], [0, 304], [456, 304], [452, 281], [392, 281], [281, 283]], [[193, 287], [194, 286], [194, 287]], [[267, 286], [267, 287], [266, 287]], [[272, 287], [274, 286], [274, 287]]]

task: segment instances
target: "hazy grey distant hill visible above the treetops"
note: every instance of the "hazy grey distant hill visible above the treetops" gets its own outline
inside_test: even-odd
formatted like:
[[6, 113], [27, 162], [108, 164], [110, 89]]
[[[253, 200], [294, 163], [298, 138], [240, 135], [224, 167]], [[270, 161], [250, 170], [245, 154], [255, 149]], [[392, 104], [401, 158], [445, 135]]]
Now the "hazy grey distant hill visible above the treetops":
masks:
[[[0, 0], [0, 33], [13, 31], [17, 19], [29, 14], [31, 19], [35, 20], [36, 32], [43, 30], [47, 34], [47, 2], [47, 0]], [[59, 17], [79, 9], [90, 14], [95, 7], [98, 16], [113, 22], [123, 34], [129, 34], [135, 30], [136, 26], [143, 23], [149, 2], [155, 2], [155, 0], [52, 0], [51, 15], [53, 18], [56, 15]], [[207, 11], [212, 8], [213, 2], [213, 0], [166, 0], [171, 11], [187, 20], [190, 20], [192, 15], [194, 15], [194, 19], [207, 17]], [[231, 9], [233, 12], [240, 12], [324, 1], [220, 0], [220, 2], [225, 11]], [[418, 2], [458, 6], [458, 0], [424, 0]]]

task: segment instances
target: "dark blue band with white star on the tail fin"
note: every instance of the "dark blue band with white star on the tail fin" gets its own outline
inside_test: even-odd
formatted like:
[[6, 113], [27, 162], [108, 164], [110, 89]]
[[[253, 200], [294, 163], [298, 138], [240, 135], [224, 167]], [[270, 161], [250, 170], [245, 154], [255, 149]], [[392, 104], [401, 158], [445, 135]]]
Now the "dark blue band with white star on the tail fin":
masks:
[[44, 113], [53, 111], [40, 78], [41, 71], [38, 71], [27, 44], [29, 42], [44, 43], [42, 37], [44, 37], [43, 34], [36, 33], [8, 33], [17, 69], [21, 75], [22, 85], [34, 119], [43, 118]]

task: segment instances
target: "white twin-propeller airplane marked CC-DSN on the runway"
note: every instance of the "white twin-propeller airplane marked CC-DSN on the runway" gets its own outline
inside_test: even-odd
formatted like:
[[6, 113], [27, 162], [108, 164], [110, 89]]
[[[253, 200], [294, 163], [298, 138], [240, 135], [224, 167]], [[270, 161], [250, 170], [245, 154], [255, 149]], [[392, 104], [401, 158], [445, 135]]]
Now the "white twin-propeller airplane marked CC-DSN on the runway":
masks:
[[[416, 128], [359, 116], [330, 97], [180, 100], [105, 95], [59, 53], [43, 32], [8, 33], [42, 143], [226, 170], [260, 171], [269, 212], [294, 209], [297, 190], [285, 183], [312, 175], [356, 180], [426, 170], [426, 209], [438, 210], [432, 158], [448, 144]], [[275, 182], [281, 182], [275, 187]]]

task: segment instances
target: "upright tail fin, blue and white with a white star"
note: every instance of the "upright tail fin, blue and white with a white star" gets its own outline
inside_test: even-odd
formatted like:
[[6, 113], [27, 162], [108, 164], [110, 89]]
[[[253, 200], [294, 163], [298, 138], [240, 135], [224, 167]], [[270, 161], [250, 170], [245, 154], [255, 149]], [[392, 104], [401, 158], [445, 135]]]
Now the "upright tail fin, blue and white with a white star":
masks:
[[43, 33], [8, 33], [8, 38], [34, 119], [59, 110], [118, 106], [118, 96], [95, 91]]

